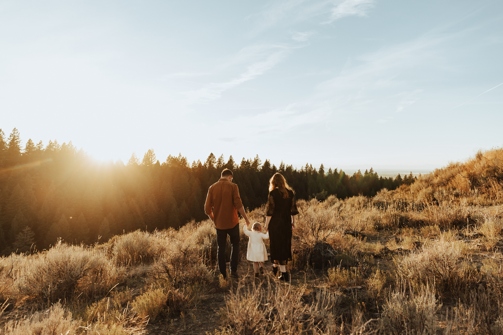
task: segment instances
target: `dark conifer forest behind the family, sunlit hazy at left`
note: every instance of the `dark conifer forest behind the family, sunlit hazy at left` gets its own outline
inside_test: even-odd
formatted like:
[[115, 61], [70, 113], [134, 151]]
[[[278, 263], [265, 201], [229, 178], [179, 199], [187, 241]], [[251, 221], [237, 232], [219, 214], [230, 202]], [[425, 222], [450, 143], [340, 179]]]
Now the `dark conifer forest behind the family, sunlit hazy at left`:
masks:
[[210, 154], [189, 163], [181, 154], [162, 163], [148, 150], [141, 162], [96, 162], [71, 141], [59, 144], [31, 139], [23, 149], [17, 129], [7, 138], [0, 129], [0, 254], [48, 248], [58, 238], [69, 243], [96, 243], [137, 229], [178, 228], [190, 219], [207, 218], [204, 202], [208, 187], [229, 168], [245, 208], [267, 200], [269, 178], [281, 172], [298, 198], [324, 199], [375, 195], [414, 181], [382, 178], [370, 171], [346, 175], [338, 169], [301, 169], [283, 162], [279, 167], [257, 155], [236, 163], [232, 156]]

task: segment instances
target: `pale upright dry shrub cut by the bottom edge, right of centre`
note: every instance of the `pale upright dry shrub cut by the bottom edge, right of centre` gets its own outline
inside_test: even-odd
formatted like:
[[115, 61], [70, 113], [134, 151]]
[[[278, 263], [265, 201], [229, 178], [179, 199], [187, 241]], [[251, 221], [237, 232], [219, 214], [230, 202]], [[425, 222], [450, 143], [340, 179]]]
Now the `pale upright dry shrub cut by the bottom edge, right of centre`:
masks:
[[[387, 334], [435, 335], [437, 331], [436, 312], [442, 307], [435, 298], [434, 290], [422, 286], [417, 294], [404, 283], [390, 292], [384, 304], [380, 328]], [[408, 293], [408, 294], [407, 294]]]

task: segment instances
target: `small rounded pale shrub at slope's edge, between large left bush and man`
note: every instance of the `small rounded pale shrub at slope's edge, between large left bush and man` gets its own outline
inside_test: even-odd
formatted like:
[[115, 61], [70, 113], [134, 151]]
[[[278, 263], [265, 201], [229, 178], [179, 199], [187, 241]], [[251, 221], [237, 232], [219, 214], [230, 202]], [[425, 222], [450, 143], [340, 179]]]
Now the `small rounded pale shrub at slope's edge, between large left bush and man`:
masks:
[[112, 248], [113, 259], [116, 264], [123, 265], [151, 263], [162, 252], [163, 245], [164, 241], [155, 233], [137, 230], [115, 240]]

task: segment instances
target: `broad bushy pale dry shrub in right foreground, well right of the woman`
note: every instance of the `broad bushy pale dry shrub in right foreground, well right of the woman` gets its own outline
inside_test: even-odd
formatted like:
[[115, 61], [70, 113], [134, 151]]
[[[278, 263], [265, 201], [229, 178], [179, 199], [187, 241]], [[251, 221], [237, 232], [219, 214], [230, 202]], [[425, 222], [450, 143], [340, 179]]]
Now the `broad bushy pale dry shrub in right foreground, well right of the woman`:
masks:
[[[449, 242], [445, 239], [426, 244], [423, 250], [413, 251], [404, 257], [395, 257], [397, 273], [413, 285], [435, 285], [440, 294], [459, 294], [474, 279], [475, 270], [464, 256], [467, 246], [463, 242]], [[476, 281], [476, 280], [475, 280]]]

